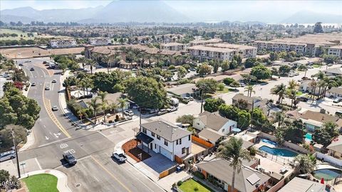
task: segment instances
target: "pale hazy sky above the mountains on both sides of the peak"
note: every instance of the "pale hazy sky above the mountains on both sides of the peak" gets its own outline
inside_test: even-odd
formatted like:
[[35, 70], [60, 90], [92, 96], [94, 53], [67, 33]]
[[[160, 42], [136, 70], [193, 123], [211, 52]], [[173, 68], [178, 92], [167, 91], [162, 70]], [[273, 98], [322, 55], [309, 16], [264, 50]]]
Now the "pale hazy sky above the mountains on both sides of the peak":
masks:
[[[34, 9], [80, 9], [105, 6], [110, 1], [16, 1], [0, 0], [0, 9], [13, 9], [31, 6]], [[322, 14], [342, 16], [342, 1], [165, 1], [185, 16], [199, 18], [201, 21], [217, 21], [229, 18], [230, 21], [278, 21], [298, 11], [314, 11]]]

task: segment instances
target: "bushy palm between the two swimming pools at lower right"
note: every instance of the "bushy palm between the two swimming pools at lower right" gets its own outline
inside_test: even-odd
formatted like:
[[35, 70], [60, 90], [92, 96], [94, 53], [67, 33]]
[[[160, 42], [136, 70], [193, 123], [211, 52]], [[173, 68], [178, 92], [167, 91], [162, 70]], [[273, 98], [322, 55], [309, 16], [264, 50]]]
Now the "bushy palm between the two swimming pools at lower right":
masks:
[[316, 161], [308, 154], [299, 154], [294, 158], [295, 168], [300, 174], [309, 174], [316, 168]]

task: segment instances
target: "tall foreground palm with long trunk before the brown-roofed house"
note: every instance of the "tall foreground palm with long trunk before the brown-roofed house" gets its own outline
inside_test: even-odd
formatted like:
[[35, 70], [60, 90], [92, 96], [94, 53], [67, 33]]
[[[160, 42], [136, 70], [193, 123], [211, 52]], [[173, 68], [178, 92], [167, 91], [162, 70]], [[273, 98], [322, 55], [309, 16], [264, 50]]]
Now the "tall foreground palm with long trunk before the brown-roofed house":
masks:
[[231, 137], [228, 142], [225, 142], [224, 145], [220, 145], [218, 149], [218, 156], [222, 159], [226, 159], [230, 162], [230, 166], [233, 166], [232, 191], [234, 191], [235, 186], [235, 173], [236, 171], [238, 173], [241, 171], [242, 160], [251, 160], [249, 151], [244, 149], [242, 144], [242, 139]]

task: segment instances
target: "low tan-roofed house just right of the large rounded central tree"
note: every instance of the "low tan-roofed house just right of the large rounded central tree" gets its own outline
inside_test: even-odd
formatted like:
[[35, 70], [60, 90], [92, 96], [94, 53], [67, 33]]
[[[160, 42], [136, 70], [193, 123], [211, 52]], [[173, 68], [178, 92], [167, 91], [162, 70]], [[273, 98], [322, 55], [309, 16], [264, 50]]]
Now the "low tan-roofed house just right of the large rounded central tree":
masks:
[[182, 98], [199, 96], [198, 88], [192, 83], [185, 83], [183, 85], [168, 88], [167, 92]]

